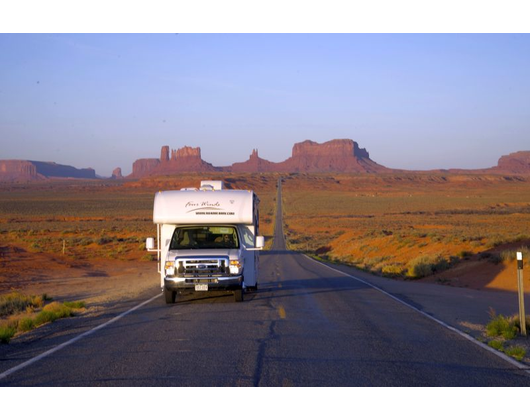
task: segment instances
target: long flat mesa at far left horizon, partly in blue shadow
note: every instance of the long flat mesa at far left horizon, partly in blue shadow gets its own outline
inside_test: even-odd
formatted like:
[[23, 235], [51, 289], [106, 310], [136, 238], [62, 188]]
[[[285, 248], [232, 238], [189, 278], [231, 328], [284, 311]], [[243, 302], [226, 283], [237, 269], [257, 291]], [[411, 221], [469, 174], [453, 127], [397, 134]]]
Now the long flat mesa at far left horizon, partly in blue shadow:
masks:
[[0, 181], [35, 181], [46, 178], [96, 179], [94, 169], [77, 169], [54, 162], [1, 160]]

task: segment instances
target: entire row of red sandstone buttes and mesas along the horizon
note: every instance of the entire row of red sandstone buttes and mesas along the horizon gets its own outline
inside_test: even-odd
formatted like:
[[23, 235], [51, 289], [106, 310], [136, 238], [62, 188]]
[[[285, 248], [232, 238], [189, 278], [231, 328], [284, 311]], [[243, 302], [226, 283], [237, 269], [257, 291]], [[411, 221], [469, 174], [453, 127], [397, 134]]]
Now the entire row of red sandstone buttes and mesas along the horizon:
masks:
[[[284, 162], [275, 163], [262, 159], [257, 149], [252, 151], [246, 162], [234, 163], [227, 167], [215, 167], [202, 159], [199, 147], [185, 146], [172, 150], [163, 146], [160, 159], [138, 159], [133, 163], [133, 171], [127, 178], [144, 178], [153, 175], [171, 175], [198, 172], [239, 172], [239, 173], [392, 173], [408, 172], [389, 169], [370, 158], [366, 149], [350, 139], [330, 140], [316, 143], [306, 140], [296, 143], [292, 156]], [[503, 156], [498, 166], [488, 169], [450, 169], [427, 172], [530, 175], [530, 151]], [[53, 178], [98, 179], [94, 169], [77, 169], [53, 162], [30, 160], [0, 160], [0, 181], [36, 181]], [[122, 179], [121, 168], [116, 168], [112, 179]]]

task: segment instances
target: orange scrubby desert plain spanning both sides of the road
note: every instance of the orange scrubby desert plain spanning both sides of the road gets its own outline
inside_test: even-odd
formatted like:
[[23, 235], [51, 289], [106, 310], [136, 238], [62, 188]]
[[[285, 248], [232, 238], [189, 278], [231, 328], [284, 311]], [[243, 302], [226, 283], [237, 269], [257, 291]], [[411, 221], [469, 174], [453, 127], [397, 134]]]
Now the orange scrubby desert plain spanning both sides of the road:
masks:
[[[130, 273], [156, 282], [154, 257], [145, 251], [145, 239], [156, 236], [154, 194], [211, 178], [257, 192], [269, 244], [281, 178], [289, 247], [377, 275], [515, 290], [515, 253], [522, 250], [528, 261], [528, 176], [204, 173], [43, 180], [0, 185], [0, 293], [66, 296], [78, 283], [83, 293], [77, 295], [87, 298], [98, 285], [109, 288]], [[127, 288], [123, 282], [115, 297]]]

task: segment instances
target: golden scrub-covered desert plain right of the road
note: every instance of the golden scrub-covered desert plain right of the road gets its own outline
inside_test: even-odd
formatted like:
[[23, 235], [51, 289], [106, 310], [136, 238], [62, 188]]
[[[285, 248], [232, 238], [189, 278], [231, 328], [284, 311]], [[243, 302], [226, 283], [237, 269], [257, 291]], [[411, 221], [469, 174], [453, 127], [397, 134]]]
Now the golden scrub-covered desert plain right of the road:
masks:
[[292, 249], [389, 277], [436, 276], [472, 258], [499, 264], [514, 255], [499, 247], [530, 241], [528, 178], [293, 175], [283, 191]]

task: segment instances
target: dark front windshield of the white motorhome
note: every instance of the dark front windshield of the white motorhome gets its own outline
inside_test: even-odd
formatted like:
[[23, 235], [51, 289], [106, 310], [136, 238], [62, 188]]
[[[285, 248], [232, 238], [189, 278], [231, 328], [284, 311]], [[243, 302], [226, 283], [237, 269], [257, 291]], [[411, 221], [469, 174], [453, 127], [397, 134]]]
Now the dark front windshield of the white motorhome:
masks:
[[170, 249], [239, 249], [237, 229], [229, 226], [193, 226], [175, 229]]

